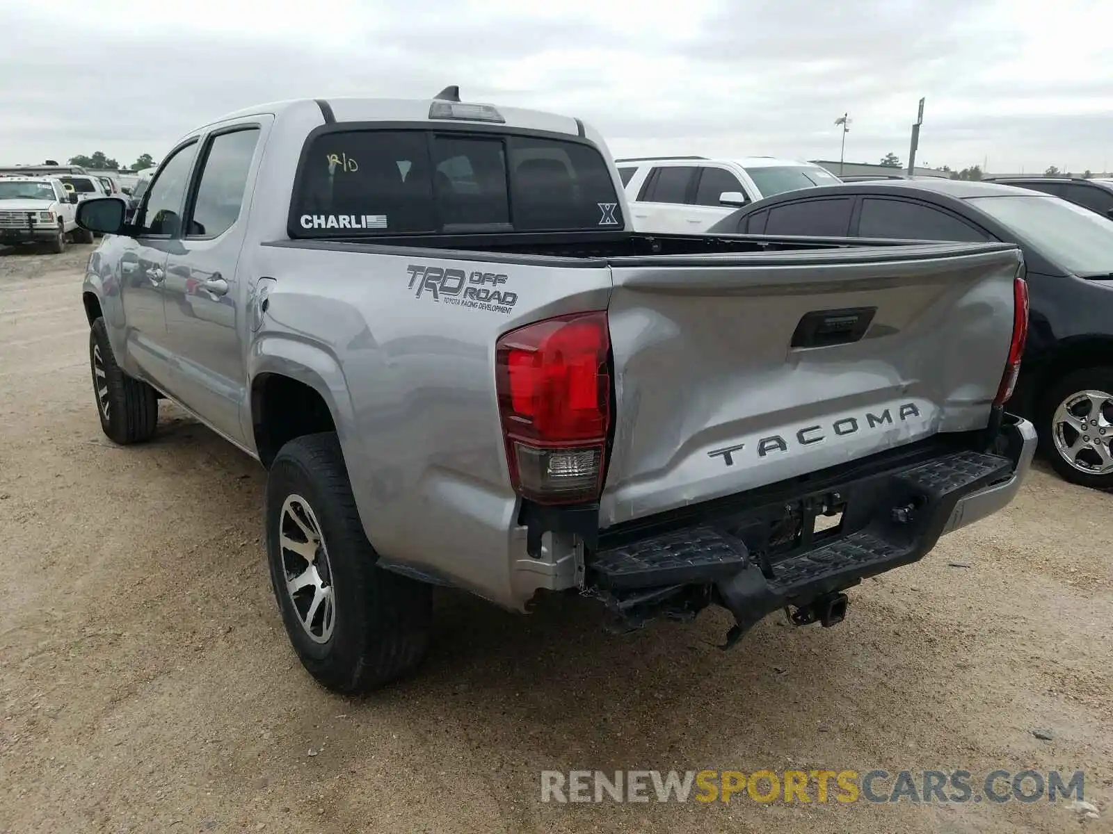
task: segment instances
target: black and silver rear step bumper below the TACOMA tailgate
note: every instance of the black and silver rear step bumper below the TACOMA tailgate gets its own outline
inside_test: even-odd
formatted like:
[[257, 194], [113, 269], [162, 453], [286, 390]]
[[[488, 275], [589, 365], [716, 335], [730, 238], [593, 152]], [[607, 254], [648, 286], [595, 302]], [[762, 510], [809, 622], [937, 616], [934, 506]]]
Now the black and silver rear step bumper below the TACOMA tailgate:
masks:
[[[630, 625], [708, 603], [735, 615], [736, 636], [787, 606], [804, 612], [799, 622], [812, 622], [831, 600], [845, 607], [838, 596], [846, 588], [919, 560], [942, 535], [1005, 507], [1035, 447], [1032, 424], [1006, 416], [999, 454], [951, 450], [790, 500], [604, 545], [587, 562], [587, 584]], [[837, 527], [820, 529], [820, 519], [839, 515]]]

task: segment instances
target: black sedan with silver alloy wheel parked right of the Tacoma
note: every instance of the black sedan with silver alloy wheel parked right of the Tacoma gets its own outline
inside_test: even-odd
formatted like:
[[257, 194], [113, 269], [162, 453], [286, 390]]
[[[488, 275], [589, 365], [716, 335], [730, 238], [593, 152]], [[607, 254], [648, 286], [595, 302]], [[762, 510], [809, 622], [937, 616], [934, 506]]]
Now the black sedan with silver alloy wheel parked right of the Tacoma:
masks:
[[1113, 487], [1113, 220], [1011, 186], [876, 180], [758, 200], [708, 234], [1017, 244], [1031, 311], [1009, 410], [1064, 478]]

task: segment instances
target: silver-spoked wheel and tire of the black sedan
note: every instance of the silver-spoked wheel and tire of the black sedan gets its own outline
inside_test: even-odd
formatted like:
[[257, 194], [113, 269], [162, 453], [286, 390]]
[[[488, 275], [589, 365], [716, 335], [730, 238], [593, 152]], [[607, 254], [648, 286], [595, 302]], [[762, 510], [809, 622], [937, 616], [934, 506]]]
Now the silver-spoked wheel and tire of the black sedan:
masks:
[[1082, 368], [1045, 393], [1040, 443], [1072, 484], [1113, 488], [1113, 367]]

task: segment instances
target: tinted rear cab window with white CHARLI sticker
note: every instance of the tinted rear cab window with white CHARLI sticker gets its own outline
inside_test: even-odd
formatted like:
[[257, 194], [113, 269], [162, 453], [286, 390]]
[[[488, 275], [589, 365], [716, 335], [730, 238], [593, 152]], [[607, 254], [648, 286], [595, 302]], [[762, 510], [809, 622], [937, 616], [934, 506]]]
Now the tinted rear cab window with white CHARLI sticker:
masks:
[[589, 142], [470, 130], [311, 136], [290, 203], [293, 238], [613, 231], [611, 171]]

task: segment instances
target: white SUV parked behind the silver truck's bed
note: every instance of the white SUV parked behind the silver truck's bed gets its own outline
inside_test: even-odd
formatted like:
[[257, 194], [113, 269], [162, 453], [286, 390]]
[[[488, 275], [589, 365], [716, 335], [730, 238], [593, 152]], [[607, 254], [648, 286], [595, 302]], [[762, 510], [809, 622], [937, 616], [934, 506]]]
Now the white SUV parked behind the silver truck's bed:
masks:
[[634, 228], [657, 234], [707, 231], [739, 206], [762, 197], [840, 182], [818, 165], [774, 157], [640, 157], [614, 161]]

